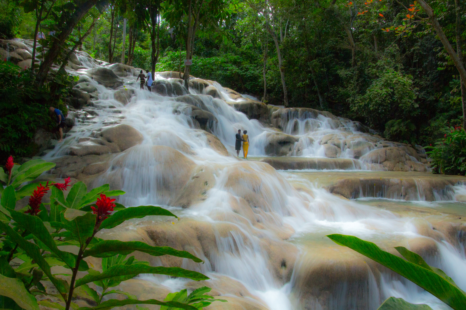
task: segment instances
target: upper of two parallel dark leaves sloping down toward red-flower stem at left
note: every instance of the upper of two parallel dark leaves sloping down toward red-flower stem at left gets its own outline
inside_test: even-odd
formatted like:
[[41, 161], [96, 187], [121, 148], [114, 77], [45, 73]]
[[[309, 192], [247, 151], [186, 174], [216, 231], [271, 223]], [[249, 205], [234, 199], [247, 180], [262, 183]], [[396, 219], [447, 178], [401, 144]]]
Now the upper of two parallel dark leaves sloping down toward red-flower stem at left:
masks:
[[50, 235], [40, 218], [14, 210], [10, 211], [10, 214], [11, 218], [13, 218], [16, 223], [20, 224], [25, 229], [27, 228], [27, 231], [32, 233], [36, 238], [38, 238], [42, 243], [44, 243], [47, 246], [48, 250], [53, 252], [60, 259], [62, 259], [63, 262], [65, 262], [69, 266], [70, 269], [75, 267], [76, 258], [73, 256], [73, 254], [69, 252], [58, 250], [54, 238]]

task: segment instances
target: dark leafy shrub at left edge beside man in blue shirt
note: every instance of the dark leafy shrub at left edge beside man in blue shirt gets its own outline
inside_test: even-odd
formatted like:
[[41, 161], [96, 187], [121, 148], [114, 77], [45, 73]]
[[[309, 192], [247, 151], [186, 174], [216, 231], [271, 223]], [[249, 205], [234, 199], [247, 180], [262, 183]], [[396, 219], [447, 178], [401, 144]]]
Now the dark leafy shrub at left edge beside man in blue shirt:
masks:
[[69, 85], [55, 83], [58, 87], [52, 95], [47, 87], [35, 86], [29, 70], [22, 71], [7, 61], [0, 61], [0, 85], [0, 158], [10, 154], [32, 155], [36, 130], [51, 129], [55, 124], [49, 117], [48, 106], [55, 106], [66, 115], [60, 96]]

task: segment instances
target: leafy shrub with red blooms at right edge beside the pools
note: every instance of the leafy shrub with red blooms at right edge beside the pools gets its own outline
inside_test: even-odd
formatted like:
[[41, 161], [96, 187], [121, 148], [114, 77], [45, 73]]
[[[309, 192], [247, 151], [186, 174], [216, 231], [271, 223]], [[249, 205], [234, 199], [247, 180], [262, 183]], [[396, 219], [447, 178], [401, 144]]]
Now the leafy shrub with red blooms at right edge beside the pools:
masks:
[[461, 126], [445, 127], [444, 137], [434, 146], [427, 146], [432, 158], [432, 171], [445, 174], [465, 174], [466, 170], [466, 132]]

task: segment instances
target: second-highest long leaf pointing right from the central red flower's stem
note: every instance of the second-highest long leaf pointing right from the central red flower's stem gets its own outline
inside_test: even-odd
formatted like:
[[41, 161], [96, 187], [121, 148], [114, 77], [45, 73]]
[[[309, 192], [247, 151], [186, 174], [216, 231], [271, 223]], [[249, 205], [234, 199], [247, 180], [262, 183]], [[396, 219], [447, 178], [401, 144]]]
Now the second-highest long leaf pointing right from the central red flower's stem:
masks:
[[110, 257], [117, 254], [128, 255], [134, 251], [140, 251], [152, 256], [173, 255], [177, 257], [189, 258], [196, 263], [202, 260], [187, 251], [178, 251], [169, 246], [151, 246], [141, 241], [104, 240], [94, 245], [89, 250], [84, 251], [83, 257]]

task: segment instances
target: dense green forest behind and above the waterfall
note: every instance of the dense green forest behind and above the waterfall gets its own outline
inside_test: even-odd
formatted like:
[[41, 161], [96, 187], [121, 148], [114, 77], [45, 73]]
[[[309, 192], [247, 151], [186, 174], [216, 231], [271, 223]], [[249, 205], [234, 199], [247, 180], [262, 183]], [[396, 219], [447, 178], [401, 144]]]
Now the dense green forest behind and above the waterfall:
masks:
[[[464, 68], [466, 5], [459, 0], [89, 1], [65, 6], [71, 16], [92, 5], [60, 40], [98, 59], [121, 62], [126, 19], [123, 62], [144, 70], [183, 73], [183, 59], [192, 58], [197, 77], [268, 104], [328, 110], [412, 144], [435, 144], [445, 126], [464, 121], [455, 59]], [[41, 3], [44, 14], [51, 9], [47, 17], [31, 11]], [[57, 31], [70, 18], [59, 13], [63, 5], [1, 0], [8, 24], [1, 36], [30, 39], [37, 26]], [[58, 62], [66, 57], [56, 54]]]

